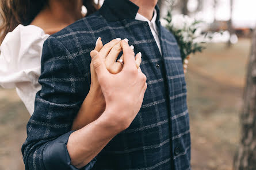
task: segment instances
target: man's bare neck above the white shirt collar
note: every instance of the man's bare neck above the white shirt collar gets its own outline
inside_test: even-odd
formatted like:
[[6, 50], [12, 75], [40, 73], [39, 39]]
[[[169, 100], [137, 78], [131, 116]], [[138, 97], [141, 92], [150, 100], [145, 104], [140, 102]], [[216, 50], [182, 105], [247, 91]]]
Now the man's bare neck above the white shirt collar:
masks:
[[135, 3], [139, 6], [138, 13], [146, 17], [148, 20], [151, 21], [156, 3], [158, 0], [130, 0], [131, 2]]

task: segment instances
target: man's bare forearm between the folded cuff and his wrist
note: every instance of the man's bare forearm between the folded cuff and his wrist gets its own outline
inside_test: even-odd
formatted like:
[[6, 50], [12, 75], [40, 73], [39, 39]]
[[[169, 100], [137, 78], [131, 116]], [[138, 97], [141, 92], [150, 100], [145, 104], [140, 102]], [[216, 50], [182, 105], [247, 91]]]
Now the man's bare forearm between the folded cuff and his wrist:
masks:
[[[106, 112], [104, 114], [108, 114]], [[67, 149], [75, 167], [82, 168], [88, 164], [121, 131], [116, 125], [108, 122], [104, 114], [70, 135]]]

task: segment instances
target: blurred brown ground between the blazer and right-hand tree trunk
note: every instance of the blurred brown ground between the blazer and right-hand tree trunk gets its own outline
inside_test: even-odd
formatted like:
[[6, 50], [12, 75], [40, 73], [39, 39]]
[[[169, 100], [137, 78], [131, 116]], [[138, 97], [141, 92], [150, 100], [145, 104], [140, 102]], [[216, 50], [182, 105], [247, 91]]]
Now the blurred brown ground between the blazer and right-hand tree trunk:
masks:
[[186, 75], [194, 170], [231, 170], [239, 143], [250, 40], [231, 49], [208, 45], [189, 63]]

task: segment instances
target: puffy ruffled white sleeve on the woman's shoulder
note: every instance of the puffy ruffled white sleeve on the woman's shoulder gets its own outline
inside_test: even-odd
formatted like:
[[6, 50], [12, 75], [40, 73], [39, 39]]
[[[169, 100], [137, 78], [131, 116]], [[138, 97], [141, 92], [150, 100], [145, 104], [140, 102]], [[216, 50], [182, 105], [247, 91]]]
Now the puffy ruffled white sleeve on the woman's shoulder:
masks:
[[49, 37], [37, 26], [18, 25], [0, 46], [0, 85], [16, 88], [29, 113], [34, 111], [36, 93], [41, 89], [41, 54]]

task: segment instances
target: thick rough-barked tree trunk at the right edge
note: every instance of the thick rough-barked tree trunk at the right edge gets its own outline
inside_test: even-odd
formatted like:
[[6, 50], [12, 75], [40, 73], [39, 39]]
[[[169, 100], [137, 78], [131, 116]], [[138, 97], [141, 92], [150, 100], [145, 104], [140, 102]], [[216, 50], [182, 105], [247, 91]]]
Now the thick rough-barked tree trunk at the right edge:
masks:
[[253, 35], [246, 83], [244, 105], [240, 116], [242, 135], [234, 159], [235, 170], [256, 169], [256, 29]]

